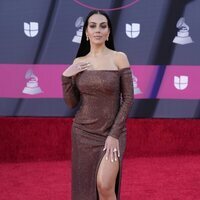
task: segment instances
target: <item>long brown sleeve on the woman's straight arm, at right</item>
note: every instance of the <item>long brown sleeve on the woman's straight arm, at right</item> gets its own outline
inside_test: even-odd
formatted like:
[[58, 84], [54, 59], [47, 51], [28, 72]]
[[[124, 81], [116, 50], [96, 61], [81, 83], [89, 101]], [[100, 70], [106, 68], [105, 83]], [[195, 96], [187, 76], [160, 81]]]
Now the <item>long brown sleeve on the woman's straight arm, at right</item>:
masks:
[[128, 113], [133, 105], [133, 81], [130, 68], [124, 68], [120, 71], [120, 88], [122, 103], [109, 133], [110, 136], [117, 139], [125, 127]]

